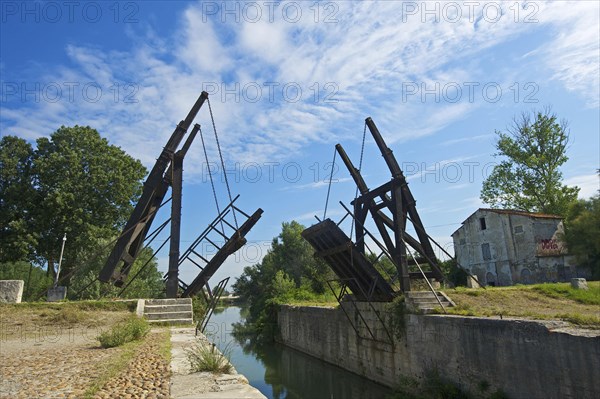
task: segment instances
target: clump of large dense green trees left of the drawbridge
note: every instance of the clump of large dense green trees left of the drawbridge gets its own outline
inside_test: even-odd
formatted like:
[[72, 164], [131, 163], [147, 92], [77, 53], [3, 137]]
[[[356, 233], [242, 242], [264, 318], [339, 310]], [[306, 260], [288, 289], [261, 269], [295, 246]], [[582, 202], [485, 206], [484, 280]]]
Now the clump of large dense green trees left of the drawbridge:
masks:
[[[61, 276], [68, 277], [85, 264], [95, 242], [118, 234], [141, 194], [146, 169], [89, 126], [62, 126], [38, 139], [33, 152], [28, 146], [12, 136], [0, 143], [2, 165], [11, 165], [1, 175], [0, 219], [24, 215], [26, 226], [6, 231], [0, 253], [21, 260], [27, 247], [25, 258], [47, 264], [53, 275], [66, 233]], [[23, 230], [33, 238], [23, 240]], [[69, 285], [68, 278], [64, 284]]]

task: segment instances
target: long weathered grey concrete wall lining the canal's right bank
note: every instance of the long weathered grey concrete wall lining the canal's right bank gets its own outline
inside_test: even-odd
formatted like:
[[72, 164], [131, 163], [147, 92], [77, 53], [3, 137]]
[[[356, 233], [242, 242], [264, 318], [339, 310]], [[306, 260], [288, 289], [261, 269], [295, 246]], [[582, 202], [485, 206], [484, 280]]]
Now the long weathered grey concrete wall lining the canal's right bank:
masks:
[[471, 392], [489, 387], [510, 398], [600, 397], [600, 332], [563, 322], [392, 317], [390, 305], [376, 303], [344, 308], [352, 323], [341, 309], [283, 306], [278, 339], [390, 387], [436, 370]]

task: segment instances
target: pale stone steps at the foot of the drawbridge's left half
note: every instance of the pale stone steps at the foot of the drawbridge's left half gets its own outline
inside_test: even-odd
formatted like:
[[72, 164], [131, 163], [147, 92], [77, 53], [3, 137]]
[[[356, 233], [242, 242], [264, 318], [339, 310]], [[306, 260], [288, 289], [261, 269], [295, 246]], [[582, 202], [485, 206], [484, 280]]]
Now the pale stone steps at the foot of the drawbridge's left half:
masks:
[[191, 298], [146, 299], [143, 315], [149, 323], [194, 324]]

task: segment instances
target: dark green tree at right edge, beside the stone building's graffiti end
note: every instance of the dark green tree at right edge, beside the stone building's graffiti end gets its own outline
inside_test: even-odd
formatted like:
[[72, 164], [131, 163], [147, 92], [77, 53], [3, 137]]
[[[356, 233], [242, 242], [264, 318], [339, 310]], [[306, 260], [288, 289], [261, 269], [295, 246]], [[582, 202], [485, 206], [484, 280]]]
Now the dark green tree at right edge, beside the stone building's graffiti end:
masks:
[[572, 204], [564, 225], [569, 254], [600, 279], [600, 195]]

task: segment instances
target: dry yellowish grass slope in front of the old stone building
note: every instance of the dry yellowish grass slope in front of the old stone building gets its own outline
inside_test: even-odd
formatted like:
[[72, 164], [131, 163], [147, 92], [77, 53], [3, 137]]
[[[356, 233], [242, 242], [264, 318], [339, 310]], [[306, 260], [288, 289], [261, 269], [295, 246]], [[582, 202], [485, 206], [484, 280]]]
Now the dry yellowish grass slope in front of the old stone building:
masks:
[[600, 329], [600, 281], [589, 281], [589, 290], [569, 283], [517, 285], [444, 290], [456, 303], [448, 313], [462, 316], [508, 316], [539, 320], [564, 320]]

